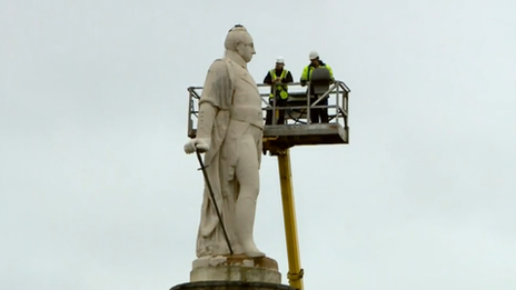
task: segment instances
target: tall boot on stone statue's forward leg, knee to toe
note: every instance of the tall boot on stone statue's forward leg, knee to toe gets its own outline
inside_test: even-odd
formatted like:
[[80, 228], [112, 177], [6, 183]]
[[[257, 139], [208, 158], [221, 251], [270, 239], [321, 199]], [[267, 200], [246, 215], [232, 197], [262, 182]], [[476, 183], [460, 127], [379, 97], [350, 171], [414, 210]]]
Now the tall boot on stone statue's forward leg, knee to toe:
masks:
[[250, 197], [240, 197], [237, 201], [236, 211], [237, 232], [242, 246], [244, 253], [250, 258], [265, 257], [265, 253], [256, 248], [252, 238], [256, 199]]

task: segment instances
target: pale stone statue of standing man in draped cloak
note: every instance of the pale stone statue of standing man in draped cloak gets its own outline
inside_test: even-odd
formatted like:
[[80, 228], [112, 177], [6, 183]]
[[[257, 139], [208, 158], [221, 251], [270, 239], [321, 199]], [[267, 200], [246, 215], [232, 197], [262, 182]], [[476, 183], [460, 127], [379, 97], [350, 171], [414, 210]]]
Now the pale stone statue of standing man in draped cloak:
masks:
[[[185, 146], [185, 152], [205, 153], [206, 173], [235, 254], [265, 257], [252, 238], [264, 130], [260, 94], [247, 70], [256, 51], [242, 26], [228, 32], [225, 47], [226, 56], [208, 70], [197, 137]], [[198, 258], [230, 253], [208, 190], [205, 182]]]

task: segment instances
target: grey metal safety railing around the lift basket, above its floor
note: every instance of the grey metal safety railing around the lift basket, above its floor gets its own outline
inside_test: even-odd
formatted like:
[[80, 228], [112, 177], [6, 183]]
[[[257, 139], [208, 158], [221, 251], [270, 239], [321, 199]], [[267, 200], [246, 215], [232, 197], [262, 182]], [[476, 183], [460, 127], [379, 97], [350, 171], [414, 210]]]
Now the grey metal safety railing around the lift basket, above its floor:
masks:
[[[270, 98], [270, 84], [259, 83], [258, 90], [262, 101], [261, 110], [265, 114], [272, 113], [272, 126], [311, 124], [315, 110], [325, 110], [328, 114], [328, 123], [339, 123], [348, 128], [348, 99], [350, 89], [343, 81], [334, 81], [328, 90], [317, 98], [310, 98], [310, 83], [305, 87], [300, 82], [288, 83], [289, 97], [278, 104], [277, 98]], [[188, 137], [194, 138], [197, 131], [199, 113], [199, 100], [202, 96], [202, 87], [189, 87], [188, 89]], [[276, 87], [272, 88], [274, 96]], [[326, 102], [326, 103], [324, 103]], [[285, 123], [277, 124], [279, 111], [285, 111]], [[320, 112], [320, 111], [319, 111]], [[264, 116], [266, 121], [266, 116]], [[318, 123], [318, 122], [317, 122]], [[267, 124], [267, 126], [270, 126]]]

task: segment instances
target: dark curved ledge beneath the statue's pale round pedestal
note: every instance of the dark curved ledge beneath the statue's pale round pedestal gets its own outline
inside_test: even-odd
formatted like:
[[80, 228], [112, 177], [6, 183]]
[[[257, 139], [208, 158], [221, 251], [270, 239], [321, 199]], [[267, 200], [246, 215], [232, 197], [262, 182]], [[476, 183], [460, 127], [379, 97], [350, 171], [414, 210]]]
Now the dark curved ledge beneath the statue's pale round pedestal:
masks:
[[182, 283], [170, 290], [296, 290], [286, 284], [242, 282], [242, 281], [204, 281]]

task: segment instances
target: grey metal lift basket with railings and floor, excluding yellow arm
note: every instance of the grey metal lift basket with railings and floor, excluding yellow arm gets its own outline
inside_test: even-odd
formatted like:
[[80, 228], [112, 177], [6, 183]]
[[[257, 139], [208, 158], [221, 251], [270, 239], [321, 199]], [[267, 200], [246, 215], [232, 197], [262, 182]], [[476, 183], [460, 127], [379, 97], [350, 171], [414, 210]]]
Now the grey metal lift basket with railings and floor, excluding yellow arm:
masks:
[[[309, 86], [309, 84], [308, 84]], [[260, 83], [258, 88], [270, 89], [269, 84]], [[328, 98], [328, 104], [309, 103], [306, 91], [300, 91], [299, 82], [289, 83], [289, 93], [286, 107], [269, 104], [269, 92], [261, 92], [262, 110], [285, 110], [286, 124], [276, 124], [277, 113], [274, 114], [272, 124], [264, 129], [264, 148], [275, 152], [276, 149], [286, 149], [294, 146], [316, 144], [347, 144], [349, 143], [348, 126], [348, 96], [349, 88], [343, 81], [335, 81], [321, 96]], [[305, 89], [307, 90], [307, 89]], [[196, 137], [198, 102], [202, 87], [190, 87], [188, 110], [188, 137]], [[315, 108], [328, 110], [328, 123], [312, 123], [310, 113]], [[264, 118], [265, 119], [265, 118]]]

